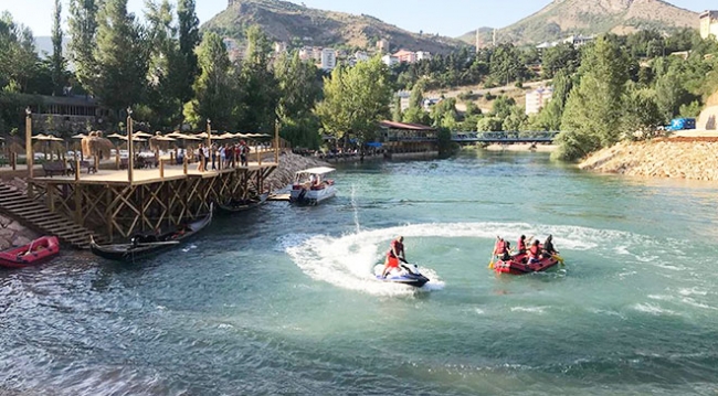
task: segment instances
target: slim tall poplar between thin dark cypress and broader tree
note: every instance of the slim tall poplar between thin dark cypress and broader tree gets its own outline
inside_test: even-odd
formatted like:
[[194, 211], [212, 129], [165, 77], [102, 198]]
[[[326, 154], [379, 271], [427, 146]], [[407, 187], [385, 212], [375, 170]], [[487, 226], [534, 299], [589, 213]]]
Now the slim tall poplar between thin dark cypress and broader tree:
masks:
[[70, 58], [80, 84], [89, 92], [97, 74], [93, 49], [96, 46], [98, 9], [99, 0], [70, 1]]

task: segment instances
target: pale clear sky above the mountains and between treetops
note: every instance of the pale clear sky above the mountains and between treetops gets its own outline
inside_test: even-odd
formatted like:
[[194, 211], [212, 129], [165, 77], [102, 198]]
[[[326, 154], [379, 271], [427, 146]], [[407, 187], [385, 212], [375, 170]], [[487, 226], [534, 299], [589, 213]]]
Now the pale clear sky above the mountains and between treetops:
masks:
[[[176, 2], [176, 0], [170, 0]], [[593, 0], [585, 0], [593, 1]], [[63, 2], [63, 19], [67, 3]], [[460, 36], [479, 26], [503, 28], [540, 10], [550, 0], [304, 0], [310, 8], [366, 13], [399, 28], [424, 33]], [[671, 3], [691, 11], [718, 9], [716, 0], [673, 0]], [[13, 19], [32, 29], [36, 36], [50, 35], [54, 0], [0, 0], [0, 12], [10, 11]], [[197, 0], [201, 22], [226, 8], [226, 0]], [[142, 14], [145, 0], [129, 0], [129, 11]]]

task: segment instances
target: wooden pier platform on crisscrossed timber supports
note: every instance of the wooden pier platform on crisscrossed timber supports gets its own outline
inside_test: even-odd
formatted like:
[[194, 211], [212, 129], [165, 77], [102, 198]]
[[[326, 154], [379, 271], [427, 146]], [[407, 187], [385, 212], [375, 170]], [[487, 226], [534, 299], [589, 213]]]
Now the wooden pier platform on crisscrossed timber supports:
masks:
[[101, 169], [92, 174], [33, 178], [29, 189], [51, 212], [115, 242], [173, 228], [207, 214], [212, 202], [256, 196], [276, 168], [275, 162], [260, 160], [249, 167], [199, 172], [187, 164], [161, 162], [158, 169], [135, 169], [131, 176], [127, 170]]

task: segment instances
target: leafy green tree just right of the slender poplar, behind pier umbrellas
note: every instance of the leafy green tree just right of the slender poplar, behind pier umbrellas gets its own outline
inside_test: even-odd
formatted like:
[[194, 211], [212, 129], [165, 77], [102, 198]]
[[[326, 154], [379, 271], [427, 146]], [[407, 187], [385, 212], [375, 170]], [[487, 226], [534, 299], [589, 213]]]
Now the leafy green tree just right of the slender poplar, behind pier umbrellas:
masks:
[[207, 33], [197, 49], [201, 74], [193, 85], [194, 98], [184, 105], [184, 118], [194, 127], [209, 118], [217, 129], [236, 126], [236, 77], [222, 38]]

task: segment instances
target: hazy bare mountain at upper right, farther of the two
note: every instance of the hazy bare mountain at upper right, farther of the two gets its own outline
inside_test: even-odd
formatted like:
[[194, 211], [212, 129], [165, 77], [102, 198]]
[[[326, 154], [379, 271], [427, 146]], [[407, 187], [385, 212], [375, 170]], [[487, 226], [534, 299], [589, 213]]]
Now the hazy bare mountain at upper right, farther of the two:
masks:
[[[498, 42], [537, 44], [571, 34], [627, 34], [644, 29], [698, 28], [698, 13], [662, 0], [553, 0], [540, 11], [496, 32]], [[460, 40], [475, 43], [476, 31]], [[483, 34], [490, 42], [490, 34]]]

